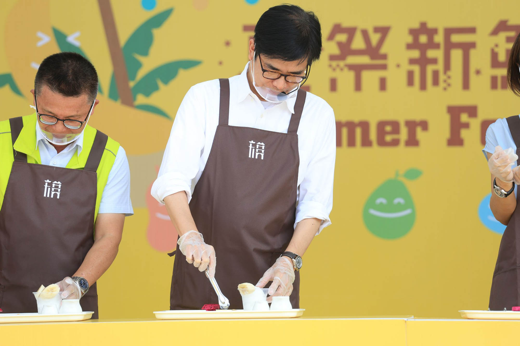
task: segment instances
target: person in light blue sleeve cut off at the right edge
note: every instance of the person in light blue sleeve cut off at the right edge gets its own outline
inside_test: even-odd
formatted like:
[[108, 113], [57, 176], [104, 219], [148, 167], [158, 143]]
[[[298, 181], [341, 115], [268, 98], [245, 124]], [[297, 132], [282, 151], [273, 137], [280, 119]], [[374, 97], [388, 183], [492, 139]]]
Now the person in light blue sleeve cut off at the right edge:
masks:
[[[520, 34], [516, 37], [508, 60], [508, 86], [520, 96]], [[491, 173], [489, 207], [495, 218], [504, 224], [493, 271], [489, 294], [489, 310], [512, 310], [520, 306], [520, 208], [517, 187], [520, 183], [518, 153], [520, 153], [520, 116], [498, 119], [486, 131], [483, 149]]]

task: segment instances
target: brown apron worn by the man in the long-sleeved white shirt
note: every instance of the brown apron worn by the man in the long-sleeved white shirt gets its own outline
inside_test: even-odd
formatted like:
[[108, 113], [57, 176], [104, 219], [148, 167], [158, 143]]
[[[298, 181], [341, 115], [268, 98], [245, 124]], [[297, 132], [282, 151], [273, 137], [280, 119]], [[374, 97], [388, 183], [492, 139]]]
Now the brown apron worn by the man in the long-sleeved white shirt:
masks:
[[[242, 309], [237, 286], [255, 285], [294, 233], [300, 165], [296, 132], [306, 95], [302, 89], [297, 92], [287, 134], [229, 126], [229, 80], [220, 79], [218, 127], [189, 206], [204, 241], [215, 248], [215, 278], [229, 309]], [[178, 246], [177, 253], [170, 309], [198, 310], [218, 303], [204, 273], [186, 262]], [[291, 303], [298, 308], [299, 273], [293, 285]]]

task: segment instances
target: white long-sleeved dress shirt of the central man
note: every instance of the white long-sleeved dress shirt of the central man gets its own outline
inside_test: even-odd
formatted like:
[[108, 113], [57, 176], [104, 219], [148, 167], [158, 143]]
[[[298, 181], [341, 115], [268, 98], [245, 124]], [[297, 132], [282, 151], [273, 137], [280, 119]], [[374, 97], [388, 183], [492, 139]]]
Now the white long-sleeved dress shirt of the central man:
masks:
[[[248, 65], [240, 75], [229, 78], [229, 125], [287, 133], [296, 91], [288, 100], [264, 108], [249, 87]], [[157, 201], [164, 203], [164, 197], [179, 191], [186, 191], [190, 201], [211, 151], [219, 103], [218, 79], [194, 85], [187, 92], [177, 111], [158, 178], [152, 185], [151, 194]], [[297, 134], [300, 167], [294, 227], [303, 219], [317, 218], [322, 220], [320, 233], [331, 223], [336, 126], [329, 104], [310, 92]]]

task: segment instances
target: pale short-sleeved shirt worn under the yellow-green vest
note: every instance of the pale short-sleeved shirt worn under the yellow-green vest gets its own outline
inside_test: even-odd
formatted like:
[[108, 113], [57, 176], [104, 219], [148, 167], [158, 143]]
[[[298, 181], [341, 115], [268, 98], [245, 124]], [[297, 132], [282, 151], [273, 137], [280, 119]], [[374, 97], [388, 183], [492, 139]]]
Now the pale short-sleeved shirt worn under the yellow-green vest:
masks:
[[[45, 139], [42, 132], [38, 130], [38, 126], [40, 125], [36, 122], [36, 146], [40, 150], [40, 158], [43, 165], [66, 167], [76, 150], [78, 155], [81, 153], [83, 133], [58, 153], [53, 145]], [[101, 195], [98, 214], [108, 212], [125, 214], [126, 216], [134, 214], [132, 202], [130, 201], [130, 167], [128, 166], [125, 150], [121, 146], [118, 153], [115, 154], [114, 164], [108, 174], [107, 184]]]

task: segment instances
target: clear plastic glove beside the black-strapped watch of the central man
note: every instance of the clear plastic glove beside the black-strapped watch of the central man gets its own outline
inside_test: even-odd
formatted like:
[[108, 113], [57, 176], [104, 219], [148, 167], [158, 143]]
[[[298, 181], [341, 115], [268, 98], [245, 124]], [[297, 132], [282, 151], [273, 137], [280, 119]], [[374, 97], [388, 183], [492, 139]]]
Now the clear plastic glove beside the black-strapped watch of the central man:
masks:
[[[290, 296], [293, 289], [295, 274], [294, 265], [287, 257], [280, 257], [276, 260], [258, 281], [256, 287], [264, 288], [269, 281], [272, 281], [267, 292], [269, 296]], [[267, 298], [267, 301], [272, 301], [272, 298]]]

